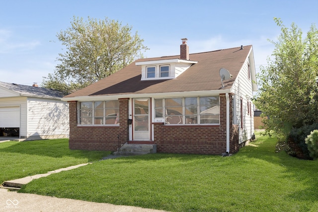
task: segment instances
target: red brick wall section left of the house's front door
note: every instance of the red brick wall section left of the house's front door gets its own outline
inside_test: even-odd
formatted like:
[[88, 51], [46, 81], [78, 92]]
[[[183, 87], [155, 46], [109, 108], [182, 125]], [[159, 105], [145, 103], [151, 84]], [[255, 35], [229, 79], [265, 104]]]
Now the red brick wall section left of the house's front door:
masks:
[[[70, 104], [70, 149], [109, 150], [116, 151], [118, 147], [118, 134], [127, 128], [128, 100], [119, 99], [119, 126], [105, 127], [79, 127], [77, 102]], [[128, 135], [124, 134], [126, 140]], [[125, 139], [125, 138], [124, 138]]]

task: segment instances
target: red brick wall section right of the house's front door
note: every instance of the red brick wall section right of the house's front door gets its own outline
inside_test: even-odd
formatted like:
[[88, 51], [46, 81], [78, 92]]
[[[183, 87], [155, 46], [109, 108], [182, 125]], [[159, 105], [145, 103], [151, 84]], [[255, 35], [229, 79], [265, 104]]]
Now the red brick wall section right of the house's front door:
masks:
[[[194, 154], [221, 154], [226, 152], [226, 111], [226, 97], [225, 94], [221, 94], [220, 125], [164, 126], [162, 123], [155, 124], [154, 137], [157, 152]], [[230, 126], [232, 126], [232, 120], [231, 117]], [[234, 131], [232, 130], [232, 132]]]

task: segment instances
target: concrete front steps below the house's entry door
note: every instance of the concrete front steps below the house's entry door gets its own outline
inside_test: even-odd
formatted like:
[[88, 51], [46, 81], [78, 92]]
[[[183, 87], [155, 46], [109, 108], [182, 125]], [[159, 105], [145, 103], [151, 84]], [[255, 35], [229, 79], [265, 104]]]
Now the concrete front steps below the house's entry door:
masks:
[[114, 155], [141, 155], [157, 153], [156, 144], [129, 144], [125, 143], [118, 151], [114, 152]]

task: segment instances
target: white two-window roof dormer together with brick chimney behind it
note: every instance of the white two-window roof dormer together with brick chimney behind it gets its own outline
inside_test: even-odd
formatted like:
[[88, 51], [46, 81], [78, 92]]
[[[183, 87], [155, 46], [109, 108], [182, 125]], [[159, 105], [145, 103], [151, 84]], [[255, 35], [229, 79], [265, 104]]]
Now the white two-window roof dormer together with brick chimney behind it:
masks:
[[180, 59], [156, 60], [137, 62], [136, 66], [141, 66], [141, 80], [174, 79], [186, 71], [197, 61], [189, 60], [189, 47], [187, 39], [183, 38], [180, 45]]

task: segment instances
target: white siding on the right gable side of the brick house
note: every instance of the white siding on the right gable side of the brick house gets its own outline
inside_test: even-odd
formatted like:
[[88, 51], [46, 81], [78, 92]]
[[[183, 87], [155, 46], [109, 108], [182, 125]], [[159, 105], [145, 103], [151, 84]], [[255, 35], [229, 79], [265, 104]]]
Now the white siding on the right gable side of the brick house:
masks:
[[[251, 61], [250, 61], [251, 60]], [[235, 83], [232, 87], [232, 91], [235, 94], [234, 95], [234, 102], [235, 102], [235, 108], [234, 108], [234, 124], [239, 125], [239, 143], [247, 141], [251, 138], [251, 136], [254, 134], [254, 105], [252, 103], [252, 97], [253, 97], [253, 84], [251, 79], [251, 73], [250, 77], [248, 78], [248, 64], [250, 65], [250, 69], [253, 69], [253, 63], [251, 63], [253, 60], [252, 56], [249, 55], [249, 57], [246, 59], [244, 65], [242, 66], [242, 69], [239, 71], [239, 75], [237, 76]], [[242, 117], [241, 120], [241, 99], [242, 99]], [[250, 102], [250, 109], [248, 108], [248, 102]], [[248, 113], [249, 111], [249, 113]], [[241, 121], [243, 125], [241, 126]]]

